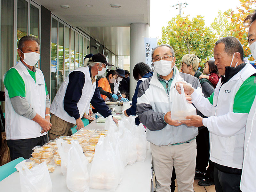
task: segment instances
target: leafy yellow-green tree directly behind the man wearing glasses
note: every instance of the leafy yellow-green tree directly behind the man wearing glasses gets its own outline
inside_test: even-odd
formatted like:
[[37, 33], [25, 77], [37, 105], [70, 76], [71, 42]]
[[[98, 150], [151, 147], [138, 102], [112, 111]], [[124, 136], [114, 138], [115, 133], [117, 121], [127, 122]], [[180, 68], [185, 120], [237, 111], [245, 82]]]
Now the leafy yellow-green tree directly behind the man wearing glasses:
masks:
[[188, 16], [177, 15], [168, 22], [166, 28], [162, 28], [162, 39], [158, 44], [170, 44], [175, 51], [176, 63], [180, 63], [187, 53], [195, 54], [203, 62], [208, 60], [213, 55], [215, 42], [214, 33], [209, 27], [204, 27], [201, 15], [192, 20]]

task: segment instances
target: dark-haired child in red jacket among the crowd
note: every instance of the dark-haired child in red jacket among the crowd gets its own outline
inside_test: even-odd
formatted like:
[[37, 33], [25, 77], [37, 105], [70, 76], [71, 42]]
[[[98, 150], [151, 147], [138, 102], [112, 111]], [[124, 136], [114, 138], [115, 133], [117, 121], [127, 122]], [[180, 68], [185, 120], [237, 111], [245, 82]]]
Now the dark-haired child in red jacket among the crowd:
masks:
[[217, 83], [219, 82], [220, 76], [218, 75], [217, 66], [214, 64], [214, 61], [209, 60], [204, 63], [204, 74], [199, 76], [199, 79], [206, 78], [208, 79], [214, 89], [216, 88]]

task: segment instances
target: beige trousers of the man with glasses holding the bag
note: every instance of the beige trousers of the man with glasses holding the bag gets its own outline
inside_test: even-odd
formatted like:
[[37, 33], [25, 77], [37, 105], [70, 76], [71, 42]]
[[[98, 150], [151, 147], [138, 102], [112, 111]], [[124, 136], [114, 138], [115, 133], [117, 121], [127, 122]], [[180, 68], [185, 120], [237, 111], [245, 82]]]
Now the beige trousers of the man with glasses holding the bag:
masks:
[[174, 165], [178, 191], [193, 192], [196, 169], [196, 140], [180, 145], [156, 146], [150, 143], [156, 176], [156, 192], [170, 192]]

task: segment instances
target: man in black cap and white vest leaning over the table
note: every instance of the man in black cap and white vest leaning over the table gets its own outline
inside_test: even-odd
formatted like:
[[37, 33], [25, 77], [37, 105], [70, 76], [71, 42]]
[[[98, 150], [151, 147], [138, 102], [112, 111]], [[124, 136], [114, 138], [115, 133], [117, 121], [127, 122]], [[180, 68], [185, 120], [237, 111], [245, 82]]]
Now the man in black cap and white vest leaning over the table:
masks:
[[[81, 118], [94, 120], [88, 116], [90, 103], [104, 117], [111, 114], [111, 110], [100, 96], [96, 75], [103, 75], [106, 66], [111, 67], [105, 55], [97, 53], [86, 55], [84, 66], [71, 71], [61, 84], [51, 105], [52, 129], [49, 140], [60, 136], [70, 135], [70, 128], [75, 124], [77, 130], [84, 127]], [[113, 120], [117, 123], [116, 118]]]

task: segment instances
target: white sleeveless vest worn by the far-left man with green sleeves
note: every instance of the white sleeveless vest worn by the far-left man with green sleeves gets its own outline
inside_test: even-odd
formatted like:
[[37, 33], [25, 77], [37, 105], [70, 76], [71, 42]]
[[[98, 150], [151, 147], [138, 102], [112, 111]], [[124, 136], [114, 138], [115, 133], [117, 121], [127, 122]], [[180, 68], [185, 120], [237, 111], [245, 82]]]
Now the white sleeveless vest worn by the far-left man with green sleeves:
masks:
[[[45, 117], [45, 85], [44, 75], [36, 69], [36, 82], [28, 73], [28, 69], [21, 61], [14, 67], [25, 83], [26, 100], [41, 117]], [[5, 77], [5, 75], [4, 75]], [[7, 89], [5, 91], [5, 132], [7, 140], [30, 139], [46, 135], [41, 134], [42, 128], [35, 121], [17, 114], [13, 107]]]

